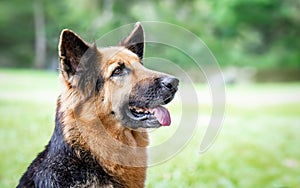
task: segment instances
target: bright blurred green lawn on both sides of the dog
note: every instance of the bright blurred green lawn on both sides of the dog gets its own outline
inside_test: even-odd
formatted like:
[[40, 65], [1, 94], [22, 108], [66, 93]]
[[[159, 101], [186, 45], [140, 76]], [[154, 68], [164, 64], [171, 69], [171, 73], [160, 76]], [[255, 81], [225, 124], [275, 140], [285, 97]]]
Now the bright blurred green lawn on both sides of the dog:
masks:
[[[49, 141], [59, 89], [56, 73], [0, 70], [0, 187], [14, 187]], [[202, 97], [209, 98], [208, 89], [197, 86]], [[199, 99], [193, 138], [148, 169], [147, 187], [300, 187], [300, 83], [228, 86], [226, 95], [212, 147], [199, 153], [211, 111], [211, 103]], [[178, 128], [179, 101], [169, 106], [174, 125], [152, 131], [152, 146]]]

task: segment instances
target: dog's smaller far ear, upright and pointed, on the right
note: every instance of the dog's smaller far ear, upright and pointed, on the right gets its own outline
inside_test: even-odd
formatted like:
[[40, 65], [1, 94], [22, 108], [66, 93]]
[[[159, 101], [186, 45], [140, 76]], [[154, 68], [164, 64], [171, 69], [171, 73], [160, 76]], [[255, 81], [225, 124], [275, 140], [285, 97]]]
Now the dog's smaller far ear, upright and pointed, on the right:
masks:
[[135, 53], [141, 60], [144, 54], [144, 29], [140, 22], [137, 22], [131, 33], [119, 42], [120, 46]]

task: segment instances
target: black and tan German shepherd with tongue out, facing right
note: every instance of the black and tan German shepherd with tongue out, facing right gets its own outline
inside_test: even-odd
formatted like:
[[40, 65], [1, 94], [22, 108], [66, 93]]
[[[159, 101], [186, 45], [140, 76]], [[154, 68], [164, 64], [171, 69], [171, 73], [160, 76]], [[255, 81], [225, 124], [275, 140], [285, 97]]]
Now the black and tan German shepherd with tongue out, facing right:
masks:
[[59, 41], [63, 91], [51, 140], [17, 187], [144, 187], [147, 128], [170, 125], [178, 79], [143, 66], [138, 22], [117, 46], [71, 30]]

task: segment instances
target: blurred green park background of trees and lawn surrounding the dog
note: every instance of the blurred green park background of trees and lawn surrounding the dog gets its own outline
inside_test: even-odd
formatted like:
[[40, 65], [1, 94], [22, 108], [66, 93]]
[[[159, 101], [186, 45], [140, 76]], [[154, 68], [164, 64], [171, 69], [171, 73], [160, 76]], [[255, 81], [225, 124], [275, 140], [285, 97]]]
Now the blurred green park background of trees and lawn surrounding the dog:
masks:
[[[209, 86], [181, 52], [160, 52], [195, 81], [199, 103], [190, 109], [199, 108], [199, 121], [186, 147], [148, 169], [147, 187], [300, 187], [299, 12], [296, 0], [1, 1], [0, 187], [16, 186], [51, 137], [60, 31], [70, 28], [93, 42], [136, 21], [195, 33], [226, 83], [222, 130], [199, 154], [212, 109]], [[155, 56], [149, 49], [146, 55]], [[180, 106], [179, 100], [168, 106], [172, 119], [180, 120]], [[153, 131], [151, 139], [163, 142], [176, 128]]]

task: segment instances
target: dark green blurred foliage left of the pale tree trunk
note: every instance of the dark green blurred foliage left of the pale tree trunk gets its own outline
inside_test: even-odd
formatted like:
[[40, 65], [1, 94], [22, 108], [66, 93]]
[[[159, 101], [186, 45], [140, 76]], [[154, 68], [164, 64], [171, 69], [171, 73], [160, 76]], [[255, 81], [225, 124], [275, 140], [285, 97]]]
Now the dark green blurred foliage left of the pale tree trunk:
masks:
[[33, 6], [29, 1], [0, 1], [0, 63], [2, 66], [32, 65]]

